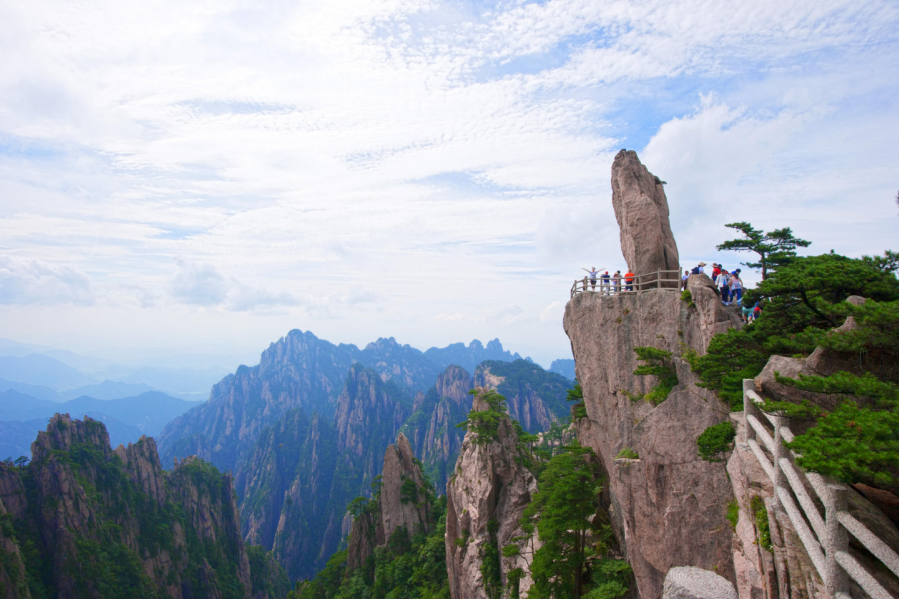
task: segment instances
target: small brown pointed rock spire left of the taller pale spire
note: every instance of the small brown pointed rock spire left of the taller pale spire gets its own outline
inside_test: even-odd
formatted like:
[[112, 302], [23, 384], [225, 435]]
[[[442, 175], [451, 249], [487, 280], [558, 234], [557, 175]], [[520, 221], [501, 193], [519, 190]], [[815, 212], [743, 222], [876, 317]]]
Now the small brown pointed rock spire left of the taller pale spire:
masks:
[[379, 492], [370, 504], [373, 509], [353, 519], [349, 568], [362, 567], [374, 549], [387, 546], [394, 534], [405, 534], [411, 540], [420, 532], [430, 532], [434, 518], [427, 495], [431, 493], [409, 440], [400, 433], [396, 444], [384, 452]]

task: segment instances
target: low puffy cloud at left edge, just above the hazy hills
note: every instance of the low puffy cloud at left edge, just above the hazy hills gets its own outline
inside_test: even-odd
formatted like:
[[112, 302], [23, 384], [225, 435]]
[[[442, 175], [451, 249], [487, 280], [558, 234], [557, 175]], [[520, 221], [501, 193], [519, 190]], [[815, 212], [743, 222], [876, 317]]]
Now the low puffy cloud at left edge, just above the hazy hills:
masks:
[[0, 255], [0, 304], [92, 303], [90, 278], [74, 266]]

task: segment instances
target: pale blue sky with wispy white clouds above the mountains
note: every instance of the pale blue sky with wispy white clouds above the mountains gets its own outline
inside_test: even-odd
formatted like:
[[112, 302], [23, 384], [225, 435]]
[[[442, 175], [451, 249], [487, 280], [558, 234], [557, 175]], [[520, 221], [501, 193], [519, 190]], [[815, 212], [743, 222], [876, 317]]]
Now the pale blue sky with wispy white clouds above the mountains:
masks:
[[0, 57], [0, 337], [548, 365], [624, 266], [620, 148], [684, 264], [739, 220], [899, 249], [892, 0], [0, 0]]

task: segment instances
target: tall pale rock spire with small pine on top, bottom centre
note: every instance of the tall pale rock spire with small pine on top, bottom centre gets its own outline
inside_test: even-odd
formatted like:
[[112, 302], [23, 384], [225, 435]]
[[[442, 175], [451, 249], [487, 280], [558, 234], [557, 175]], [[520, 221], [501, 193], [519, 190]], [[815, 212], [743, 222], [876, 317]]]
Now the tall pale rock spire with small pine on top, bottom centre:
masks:
[[[487, 403], [476, 397], [472, 410], [484, 411]], [[469, 432], [462, 444], [453, 477], [447, 483], [446, 565], [453, 599], [487, 599], [481, 566], [486, 553], [500, 552], [513, 537], [524, 535], [519, 526], [524, 508], [537, 492], [537, 480], [523, 465], [518, 436], [511, 420], [500, 420], [497, 436], [489, 443], [475, 443]], [[503, 586], [508, 572], [523, 568], [539, 545], [525, 543], [520, 555], [500, 555]], [[524, 596], [532, 581], [519, 581]]]

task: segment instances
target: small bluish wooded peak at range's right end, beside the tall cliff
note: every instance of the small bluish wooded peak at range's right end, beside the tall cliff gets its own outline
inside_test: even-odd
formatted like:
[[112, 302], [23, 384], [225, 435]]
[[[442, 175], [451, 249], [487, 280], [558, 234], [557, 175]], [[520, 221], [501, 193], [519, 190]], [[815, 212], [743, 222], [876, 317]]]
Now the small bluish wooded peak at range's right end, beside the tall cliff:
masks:
[[482, 362], [475, 370], [474, 385], [496, 389], [506, 398], [509, 416], [529, 433], [549, 429], [570, 410], [566, 397], [571, 380], [526, 360]]

